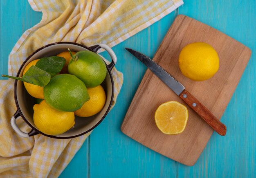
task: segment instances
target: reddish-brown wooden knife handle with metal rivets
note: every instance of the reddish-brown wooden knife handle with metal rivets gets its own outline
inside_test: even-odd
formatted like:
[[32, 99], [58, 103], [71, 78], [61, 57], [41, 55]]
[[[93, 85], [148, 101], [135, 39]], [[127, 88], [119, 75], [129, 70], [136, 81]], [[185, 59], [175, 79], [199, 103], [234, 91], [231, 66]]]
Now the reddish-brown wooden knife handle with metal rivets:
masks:
[[213, 114], [204, 107], [192, 94], [183, 90], [180, 94], [180, 98], [183, 99], [199, 116], [204, 119], [218, 134], [224, 136], [227, 132], [227, 127], [221, 123]]

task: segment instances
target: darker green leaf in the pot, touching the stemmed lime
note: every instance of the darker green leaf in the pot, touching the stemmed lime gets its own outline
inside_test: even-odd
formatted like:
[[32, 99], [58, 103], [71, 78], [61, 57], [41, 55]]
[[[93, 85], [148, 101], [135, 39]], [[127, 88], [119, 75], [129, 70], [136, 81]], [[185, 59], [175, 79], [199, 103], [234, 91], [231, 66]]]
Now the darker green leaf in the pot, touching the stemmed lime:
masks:
[[36, 62], [36, 67], [45, 70], [47, 73], [54, 77], [57, 73], [61, 72], [66, 59], [64, 57], [51, 56], [43, 57]]

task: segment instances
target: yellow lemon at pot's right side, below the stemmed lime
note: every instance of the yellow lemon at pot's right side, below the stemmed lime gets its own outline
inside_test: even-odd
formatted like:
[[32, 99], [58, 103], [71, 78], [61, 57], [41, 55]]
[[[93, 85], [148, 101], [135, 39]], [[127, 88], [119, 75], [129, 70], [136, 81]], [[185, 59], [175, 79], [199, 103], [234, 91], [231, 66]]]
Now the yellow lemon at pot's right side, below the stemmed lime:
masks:
[[97, 114], [102, 110], [106, 102], [106, 94], [101, 85], [87, 89], [90, 100], [74, 113], [80, 117], [89, 117]]

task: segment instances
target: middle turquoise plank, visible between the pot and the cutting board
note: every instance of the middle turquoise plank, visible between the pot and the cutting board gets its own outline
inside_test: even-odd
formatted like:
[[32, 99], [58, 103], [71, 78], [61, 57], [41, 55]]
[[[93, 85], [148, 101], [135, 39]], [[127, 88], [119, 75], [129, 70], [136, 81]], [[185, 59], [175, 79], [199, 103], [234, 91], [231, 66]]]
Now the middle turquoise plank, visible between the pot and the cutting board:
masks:
[[[116, 67], [124, 74], [124, 84], [117, 104], [91, 134], [91, 177], [176, 177], [175, 161], [144, 147], [120, 130], [132, 97], [146, 71], [146, 67], [133, 59], [124, 48], [135, 48], [153, 57], [174, 17], [173, 12], [112, 48], [117, 54]], [[103, 55], [108, 57], [105, 52]]]

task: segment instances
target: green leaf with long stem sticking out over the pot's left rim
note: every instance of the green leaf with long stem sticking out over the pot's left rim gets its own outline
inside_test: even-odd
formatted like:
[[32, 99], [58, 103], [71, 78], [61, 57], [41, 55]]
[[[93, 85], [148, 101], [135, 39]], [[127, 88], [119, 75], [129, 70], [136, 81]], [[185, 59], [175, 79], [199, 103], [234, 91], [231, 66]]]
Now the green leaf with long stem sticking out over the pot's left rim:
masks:
[[27, 70], [25, 75], [23, 75], [22, 77], [12, 77], [9, 75], [2, 75], [2, 77], [17, 79], [38, 86], [46, 86], [51, 79], [51, 75], [49, 73], [45, 72], [44, 70], [41, 70], [36, 66], [31, 66], [29, 70]]

